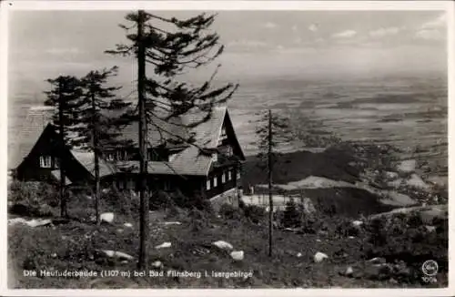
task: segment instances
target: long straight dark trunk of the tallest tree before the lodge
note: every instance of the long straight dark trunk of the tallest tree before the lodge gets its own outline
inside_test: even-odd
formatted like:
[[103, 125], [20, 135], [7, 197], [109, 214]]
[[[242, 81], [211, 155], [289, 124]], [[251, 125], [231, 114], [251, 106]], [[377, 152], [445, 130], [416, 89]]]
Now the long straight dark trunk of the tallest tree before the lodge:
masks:
[[145, 105], [146, 51], [142, 40], [144, 11], [139, 10], [137, 22], [137, 92], [139, 106], [139, 199], [140, 199], [140, 244], [138, 268], [147, 270], [148, 211], [147, 198], [147, 118]]

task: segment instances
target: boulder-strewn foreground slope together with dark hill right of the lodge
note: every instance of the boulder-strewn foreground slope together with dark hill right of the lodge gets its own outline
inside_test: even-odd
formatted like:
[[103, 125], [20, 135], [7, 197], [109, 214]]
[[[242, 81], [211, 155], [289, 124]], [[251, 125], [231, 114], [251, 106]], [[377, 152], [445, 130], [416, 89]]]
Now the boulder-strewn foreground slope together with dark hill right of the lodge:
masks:
[[[423, 174], [418, 160], [382, 158], [388, 156], [388, 149], [382, 157], [373, 158], [370, 150], [362, 149], [363, 155], [346, 148], [295, 152], [278, 162], [275, 196], [306, 202], [303, 208], [295, 203], [275, 211], [271, 258], [268, 214], [264, 208], [248, 205], [248, 199], [244, 198], [246, 203], [241, 203], [240, 209], [225, 205], [219, 213], [197, 200], [194, 210], [167, 205], [151, 211], [151, 274], [136, 271], [136, 198], [105, 193], [101, 200], [103, 222], [96, 226], [89, 197], [73, 197], [70, 218], [62, 220], [57, 218], [53, 191], [16, 184], [8, 196], [9, 286], [447, 286], [447, 185]], [[261, 172], [251, 165], [247, 164], [246, 182], [260, 185]], [[259, 196], [260, 190], [265, 190], [260, 186], [255, 189]], [[439, 265], [430, 279], [421, 268], [429, 260]], [[48, 275], [25, 276], [24, 270], [46, 271]], [[62, 271], [96, 271], [98, 276], [67, 277], [61, 276]], [[102, 271], [119, 272], [99, 277]]]

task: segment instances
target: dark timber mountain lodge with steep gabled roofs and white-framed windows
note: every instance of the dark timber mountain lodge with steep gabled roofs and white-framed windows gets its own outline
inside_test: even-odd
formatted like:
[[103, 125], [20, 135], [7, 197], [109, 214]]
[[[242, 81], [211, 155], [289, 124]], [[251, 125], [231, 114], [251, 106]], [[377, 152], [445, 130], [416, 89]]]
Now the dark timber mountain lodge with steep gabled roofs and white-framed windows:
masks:
[[[30, 108], [20, 135], [21, 144], [12, 153], [10, 169], [19, 180], [58, 182], [58, 156], [63, 149], [66, 185], [85, 187], [94, 179], [94, 154], [80, 149], [63, 148], [56, 129], [50, 124], [53, 110]], [[186, 195], [202, 195], [209, 200], [238, 196], [241, 166], [245, 155], [240, 147], [227, 108], [217, 107], [211, 118], [195, 128], [197, 121], [188, 114], [170, 122], [154, 120], [148, 125], [149, 139], [147, 185], [151, 190], [180, 190]], [[194, 137], [192, 144], [177, 141]], [[121, 138], [133, 141], [128, 148], [109, 148], [100, 159], [103, 188], [137, 190], [137, 123], [122, 130]]]

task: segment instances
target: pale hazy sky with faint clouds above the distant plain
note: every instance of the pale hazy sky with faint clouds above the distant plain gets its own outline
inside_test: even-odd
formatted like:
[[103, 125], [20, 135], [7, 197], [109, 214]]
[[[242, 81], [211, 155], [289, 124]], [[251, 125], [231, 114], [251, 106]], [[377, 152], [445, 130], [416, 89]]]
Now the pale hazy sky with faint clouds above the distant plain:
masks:
[[[189, 17], [197, 12], [157, 14]], [[120, 80], [135, 79], [130, 60], [103, 53], [126, 41], [124, 30], [117, 26], [126, 23], [124, 15], [123, 11], [11, 12], [11, 81], [39, 88], [47, 77], [114, 65], [122, 69]], [[226, 46], [219, 59], [220, 76], [241, 81], [264, 76], [445, 72], [445, 22], [439, 11], [222, 11], [213, 29]], [[205, 75], [202, 71], [196, 76]]]

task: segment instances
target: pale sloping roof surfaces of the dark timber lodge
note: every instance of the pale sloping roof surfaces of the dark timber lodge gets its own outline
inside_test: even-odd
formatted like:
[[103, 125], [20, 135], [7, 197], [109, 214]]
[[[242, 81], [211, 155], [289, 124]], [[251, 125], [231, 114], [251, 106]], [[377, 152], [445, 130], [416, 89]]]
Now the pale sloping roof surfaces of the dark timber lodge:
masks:
[[[30, 109], [20, 136], [23, 143], [17, 151], [15, 162], [12, 162], [13, 168], [16, 168], [33, 148], [45, 126], [49, 123], [51, 116], [52, 110], [49, 112], [48, 109]], [[171, 161], [149, 161], [147, 166], [149, 173], [207, 176], [213, 159], [210, 154], [202, 152], [200, 148], [217, 148], [224, 119], [228, 117], [227, 108], [214, 108], [211, 117], [195, 128], [184, 127], [187, 124], [198, 122], [201, 119], [200, 117], [200, 113], [188, 113], [184, 117], [169, 122], [157, 118], [152, 124], [148, 125], [147, 138], [152, 147], [157, 147], [169, 139], [187, 138], [189, 134], [193, 134], [195, 139], [192, 145], [187, 145], [177, 152]], [[137, 123], [127, 126], [123, 130], [121, 138], [133, 140], [136, 143]], [[92, 174], [94, 173], [93, 152], [77, 149], [72, 149], [71, 152], [81, 165]], [[138, 161], [116, 162], [114, 164], [101, 160], [100, 176], [119, 172], [126, 167], [138, 168]], [[132, 172], [135, 170], [133, 169]]]

